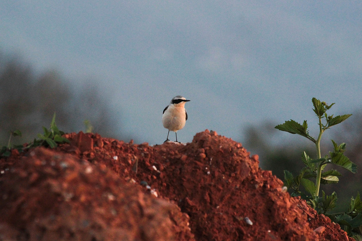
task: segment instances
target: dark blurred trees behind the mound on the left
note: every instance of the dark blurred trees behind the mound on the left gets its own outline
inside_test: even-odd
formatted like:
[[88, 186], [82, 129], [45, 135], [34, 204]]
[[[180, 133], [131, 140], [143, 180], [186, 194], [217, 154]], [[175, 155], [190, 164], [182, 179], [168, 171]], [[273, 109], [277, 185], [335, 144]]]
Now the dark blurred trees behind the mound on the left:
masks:
[[0, 52], [0, 146], [16, 129], [22, 138], [13, 143], [32, 141], [42, 133], [42, 126], [49, 127], [54, 112], [59, 129], [65, 132], [85, 131], [84, 120], [89, 120], [102, 136], [129, 138], [120, 132], [119, 121], [92, 82], [76, 90], [59, 72], [34, 74], [19, 57], [10, 59]]

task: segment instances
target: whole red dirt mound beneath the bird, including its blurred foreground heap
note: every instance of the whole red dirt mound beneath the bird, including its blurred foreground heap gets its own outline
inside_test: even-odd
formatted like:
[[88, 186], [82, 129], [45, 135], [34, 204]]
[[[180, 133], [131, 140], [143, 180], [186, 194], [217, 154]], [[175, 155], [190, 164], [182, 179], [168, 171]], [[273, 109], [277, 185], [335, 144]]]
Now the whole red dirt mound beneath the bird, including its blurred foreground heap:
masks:
[[98, 134], [65, 137], [71, 144], [0, 159], [4, 237], [348, 240], [339, 225], [261, 170], [257, 155], [216, 132], [156, 146]]

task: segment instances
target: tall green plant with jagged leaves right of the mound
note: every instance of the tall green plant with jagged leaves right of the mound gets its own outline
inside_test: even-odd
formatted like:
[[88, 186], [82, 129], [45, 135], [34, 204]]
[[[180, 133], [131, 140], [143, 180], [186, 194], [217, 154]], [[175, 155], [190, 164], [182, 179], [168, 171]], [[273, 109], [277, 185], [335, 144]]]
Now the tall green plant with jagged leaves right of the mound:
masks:
[[[327, 115], [327, 111], [334, 103], [327, 105], [325, 102], [321, 102], [316, 98], [312, 98], [312, 103], [314, 107], [313, 111], [319, 119], [319, 135], [317, 139], [309, 134], [306, 120], [304, 120], [302, 125], [294, 120], [290, 120], [285, 121], [284, 124], [275, 126], [278, 130], [302, 135], [316, 145], [316, 159], [312, 159], [304, 152], [302, 161], [306, 166], [296, 177], [294, 177], [291, 172], [284, 171], [284, 183], [288, 188], [293, 190], [291, 193], [292, 196], [301, 196], [303, 199], [306, 199], [308, 204], [317, 210], [319, 214], [323, 213], [328, 215], [333, 221], [343, 225], [349, 234], [357, 235], [361, 233], [360, 229], [362, 229], [362, 203], [359, 193], [357, 193], [355, 199], [353, 197], [351, 198], [348, 211], [337, 214], [327, 213], [336, 207], [337, 194], [335, 192], [331, 195], [326, 195], [324, 191], [322, 191], [322, 195], [319, 197], [320, 184], [336, 183], [339, 181], [338, 177], [342, 176], [341, 173], [335, 169], [323, 172], [327, 164], [338, 165], [353, 173], [357, 172], [357, 165], [343, 154], [346, 150], [345, 143], [338, 145], [332, 140], [334, 150], [324, 157], [321, 156], [320, 150], [320, 141], [325, 130], [345, 121], [351, 114], [333, 117], [333, 115]], [[323, 119], [325, 124], [322, 123]], [[315, 178], [315, 182], [311, 181], [310, 178]], [[300, 186], [303, 186], [305, 189], [304, 192], [300, 190]]]

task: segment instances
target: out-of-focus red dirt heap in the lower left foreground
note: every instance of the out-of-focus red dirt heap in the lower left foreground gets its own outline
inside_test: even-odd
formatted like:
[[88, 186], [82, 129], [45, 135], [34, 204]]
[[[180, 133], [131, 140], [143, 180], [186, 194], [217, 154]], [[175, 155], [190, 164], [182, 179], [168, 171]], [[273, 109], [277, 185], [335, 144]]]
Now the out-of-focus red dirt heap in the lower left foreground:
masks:
[[144, 194], [105, 165], [44, 147], [18, 159], [0, 189], [0, 220], [7, 224], [0, 232], [8, 238], [193, 240], [176, 205]]

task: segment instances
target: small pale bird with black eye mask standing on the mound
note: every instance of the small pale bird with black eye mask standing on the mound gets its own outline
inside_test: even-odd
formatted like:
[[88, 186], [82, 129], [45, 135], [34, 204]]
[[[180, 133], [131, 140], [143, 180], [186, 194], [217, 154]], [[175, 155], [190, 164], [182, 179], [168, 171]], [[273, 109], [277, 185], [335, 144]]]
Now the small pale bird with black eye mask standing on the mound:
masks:
[[187, 120], [185, 103], [188, 101], [190, 100], [186, 100], [181, 95], [177, 95], [172, 98], [170, 104], [163, 110], [162, 124], [164, 128], [168, 129], [167, 139], [164, 142], [169, 141], [168, 135], [170, 134], [170, 130], [175, 132], [176, 142], [178, 142], [177, 131], [185, 126]]

